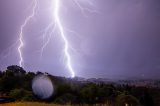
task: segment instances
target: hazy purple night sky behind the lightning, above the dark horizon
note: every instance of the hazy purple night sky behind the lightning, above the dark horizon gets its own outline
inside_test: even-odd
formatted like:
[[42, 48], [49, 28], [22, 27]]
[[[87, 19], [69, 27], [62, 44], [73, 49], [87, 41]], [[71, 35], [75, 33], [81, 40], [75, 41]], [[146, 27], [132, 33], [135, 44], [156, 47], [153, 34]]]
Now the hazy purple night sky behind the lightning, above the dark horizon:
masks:
[[[24, 68], [70, 76], [63, 61], [63, 42], [54, 33], [40, 59], [45, 27], [52, 22], [51, 0], [39, 0], [24, 30]], [[85, 0], [82, 6], [98, 13], [84, 14], [62, 0], [61, 21], [75, 52], [70, 52], [76, 76], [103, 78], [160, 78], [160, 0]], [[30, 14], [32, 0], [0, 0], [0, 68], [18, 64], [18, 36]], [[85, 15], [85, 16], [84, 16]], [[16, 43], [17, 42], [17, 43]]]

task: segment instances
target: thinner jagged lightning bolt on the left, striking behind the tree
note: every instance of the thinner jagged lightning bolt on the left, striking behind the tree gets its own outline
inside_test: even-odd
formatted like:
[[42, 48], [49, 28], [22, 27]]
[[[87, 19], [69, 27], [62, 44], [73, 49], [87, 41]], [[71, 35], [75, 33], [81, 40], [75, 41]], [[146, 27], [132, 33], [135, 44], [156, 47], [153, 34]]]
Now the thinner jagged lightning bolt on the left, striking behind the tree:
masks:
[[37, 0], [34, 0], [34, 6], [32, 9], [32, 13], [25, 19], [24, 23], [21, 25], [20, 27], [20, 34], [19, 34], [19, 46], [18, 46], [18, 53], [19, 53], [19, 66], [23, 67], [23, 55], [22, 55], [22, 48], [24, 47], [24, 42], [23, 42], [23, 36], [24, 36], [24, 29], [26, 27], [26, 25], [29, 23], [29, 21], [35, 16], [35, 11], [37, 8]]

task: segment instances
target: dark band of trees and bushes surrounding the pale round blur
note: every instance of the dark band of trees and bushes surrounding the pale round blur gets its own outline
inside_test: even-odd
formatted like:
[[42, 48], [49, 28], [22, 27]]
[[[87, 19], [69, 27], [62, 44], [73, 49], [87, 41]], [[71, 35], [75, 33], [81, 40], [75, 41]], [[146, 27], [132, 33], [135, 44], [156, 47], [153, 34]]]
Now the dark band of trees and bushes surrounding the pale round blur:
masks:
[[[45, 100], [36, 97], [32, 93], [32, 80], [40, 74], [47, 75], [55, 86], [53, 96]], [[48, 73], [26, 72], [23, 68], [15, 65], [7, 67], [5, 71], [0, 71], [0, 95], [1, 97], [12, 97], [19, 101], [19, 103], [11, 106], [23, 106], [24, 103], [20, 101], [29, 101], [26, 102], [25, 106], [28, 106], [27, 104], [32, 106], [30, 102], [47, 102], [61, 105], [160, 106], [159, 88], [78, 81], [56, 77]], [[4, 106], [10, 105], [6, 104]], [[33, 106], [36, 106], [36, 103]], [[43, 104], [43, 106], [50, 105]]]

